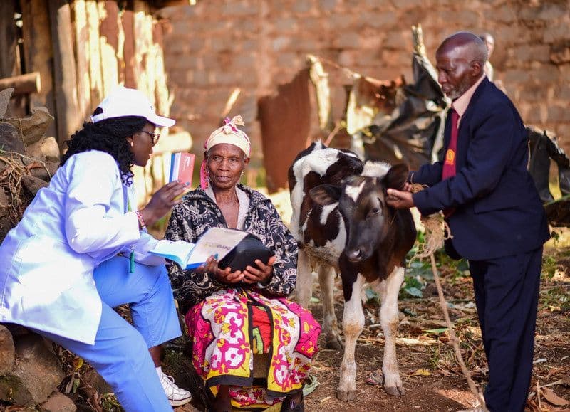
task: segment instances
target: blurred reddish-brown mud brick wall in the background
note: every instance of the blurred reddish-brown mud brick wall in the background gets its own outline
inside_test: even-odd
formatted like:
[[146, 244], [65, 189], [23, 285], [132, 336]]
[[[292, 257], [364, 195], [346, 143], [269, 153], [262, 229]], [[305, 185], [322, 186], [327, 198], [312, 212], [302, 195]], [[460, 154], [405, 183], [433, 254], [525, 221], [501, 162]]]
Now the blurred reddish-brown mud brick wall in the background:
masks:
[[[307, 53], [373, 78], [412, 80], [416, 23], [432, 63], [455, 31], [492, 33], [495, 78], [525, 122], [556, 132], [570, 152], [570, 0], [199, 0], [160, 15], [171, 114], [192, 133], [197, 153], [236, 87], [242, 95], [232, 114], [244, 116], [261, 153], [257, 99], [294, 78]], [[325, 68], [338, 119], [350, 78]]]

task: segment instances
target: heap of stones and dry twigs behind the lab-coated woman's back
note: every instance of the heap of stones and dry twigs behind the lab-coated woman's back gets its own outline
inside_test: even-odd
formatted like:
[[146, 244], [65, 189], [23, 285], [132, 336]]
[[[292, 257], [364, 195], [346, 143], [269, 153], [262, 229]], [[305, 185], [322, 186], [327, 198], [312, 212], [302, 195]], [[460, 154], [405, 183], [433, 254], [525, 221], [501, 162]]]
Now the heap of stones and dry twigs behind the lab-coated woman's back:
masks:
[[59, 166], [60, 151], [46, 130], [53, 117], [38, 107], [24, 118], [6, 117], [14, 89], [0, 91], [0, 240], [16, 226], [39, 189]]

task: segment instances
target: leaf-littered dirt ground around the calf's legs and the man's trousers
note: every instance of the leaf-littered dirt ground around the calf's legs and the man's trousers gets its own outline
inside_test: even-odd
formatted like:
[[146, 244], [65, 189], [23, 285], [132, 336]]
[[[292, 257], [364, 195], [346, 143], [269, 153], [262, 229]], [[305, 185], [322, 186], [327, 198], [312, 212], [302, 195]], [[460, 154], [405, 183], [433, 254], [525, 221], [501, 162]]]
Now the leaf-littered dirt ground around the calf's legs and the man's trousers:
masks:
[[[548, 246], [544, 254], [545, 273], [541, 283], [535, 364], [527, 409], [570, 411], [570, 403], [563, 405], [565, 400], [570, 400], [570, 249], [554, 247], [552, 241]], [[487, 369], [470, 277], [454, 277], [451, 273], [446, 274], [444, 269], [442, 287], [451, 304], [450, 317], [455, 322], [467, 368], [475, 383], [484, 387]], [[340, 294], [340, 284], [337, 290]], [[318, 290], [314, 295], [318, 297]], [[337, 301], [341, 302], [341, 297]], [[307, 411], [457, 411], [474, 405], [475, 396], [457, 367], [452, 347], [447, 343], [447, 332], [440, 332], [445, 321], [433, 282], [425, 287], [422, 298], [400, 299], [399, 307], [397, 351], [405, 395], [389, 396], [381, 386], [365, 383], [368, 374], [381, 366], [383, 356], [382, 332], [375, 327], [378, 305], [373, 303], [366, 305], [366, 327], [356, 347], [356, 400], [344, 403], [336, 398], [342, 353], [321, 349], [314, 363], [314, 375], [319, 385], [306, 397]], [[313, 303], [311, 310], [320, 321], [321, 305]], [[340, 303], [336, 305], [336, 313], [340, 322]], [[323, 337], [320, 343], [323, 347]]]

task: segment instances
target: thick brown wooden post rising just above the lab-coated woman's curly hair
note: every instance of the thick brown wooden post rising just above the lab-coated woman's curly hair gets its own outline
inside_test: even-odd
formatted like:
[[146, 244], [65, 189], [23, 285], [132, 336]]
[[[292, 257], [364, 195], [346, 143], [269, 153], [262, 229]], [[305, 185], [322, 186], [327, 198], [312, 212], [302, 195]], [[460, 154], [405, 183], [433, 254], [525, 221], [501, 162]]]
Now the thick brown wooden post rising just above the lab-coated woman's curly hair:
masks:
[[59, 144], [81, 127], [77, 100], [76, 60], [73, 53], [71, 7], [66, 0], [49, 0], [53, 45], [53, 78], [56, 89]]

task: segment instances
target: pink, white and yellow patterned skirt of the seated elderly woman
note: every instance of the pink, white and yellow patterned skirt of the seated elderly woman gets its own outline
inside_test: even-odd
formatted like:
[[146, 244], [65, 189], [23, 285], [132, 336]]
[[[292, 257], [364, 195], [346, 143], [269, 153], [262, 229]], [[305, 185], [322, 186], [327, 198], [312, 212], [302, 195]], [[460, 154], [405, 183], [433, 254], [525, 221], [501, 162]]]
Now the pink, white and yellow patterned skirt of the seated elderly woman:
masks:
[[[192, 364], [214, 396], [229, 385], [232, 406], [267, 407], [301, 389], [321, 327], [295, 302], [252, 290], [219, 290], [186, 315]], [[254, 385], [253, 355], [271, 356], [267, 384]]]

